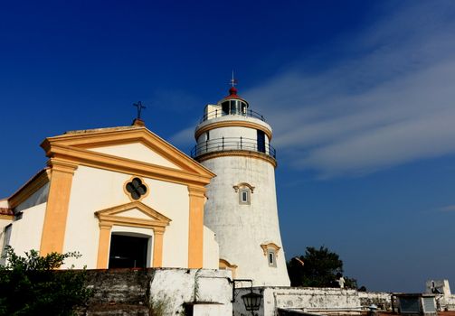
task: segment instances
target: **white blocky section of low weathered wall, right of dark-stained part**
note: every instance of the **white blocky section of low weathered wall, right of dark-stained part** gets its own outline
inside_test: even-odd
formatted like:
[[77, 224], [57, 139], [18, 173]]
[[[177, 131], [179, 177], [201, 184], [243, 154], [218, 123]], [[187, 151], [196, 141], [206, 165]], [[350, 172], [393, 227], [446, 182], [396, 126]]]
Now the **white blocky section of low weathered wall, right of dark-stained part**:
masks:
[[184, 302], [196, 302], [194, 315], [231, 316], [231, 276], [226, 270], [156, 270], [150, 284], [150, 301], [152, 305], [164, 302], [166, 315], [182, 313]]

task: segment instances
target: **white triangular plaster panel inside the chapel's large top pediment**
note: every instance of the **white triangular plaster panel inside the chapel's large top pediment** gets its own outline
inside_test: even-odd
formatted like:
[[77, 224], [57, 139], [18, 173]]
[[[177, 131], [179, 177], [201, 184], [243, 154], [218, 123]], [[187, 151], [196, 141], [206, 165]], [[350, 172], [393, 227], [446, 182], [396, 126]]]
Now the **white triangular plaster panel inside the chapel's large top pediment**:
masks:
[[139, 162], [154, 163], [169, 168], [180, 169], [175, 163], [171, 163], [159, 153], [150, 150], [145, 144], [116, 144], [113, 146], [90, 148], [90, 151], [108, 153], [118, 157], [137, 160]]

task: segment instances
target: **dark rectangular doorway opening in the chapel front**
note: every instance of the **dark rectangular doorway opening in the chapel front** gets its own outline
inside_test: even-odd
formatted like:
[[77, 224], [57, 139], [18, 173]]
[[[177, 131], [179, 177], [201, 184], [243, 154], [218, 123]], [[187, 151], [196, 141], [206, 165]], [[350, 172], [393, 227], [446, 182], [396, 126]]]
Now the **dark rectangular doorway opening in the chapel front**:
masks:
[[144, 268], [147, 265], [146, 237], [112, 235], [109, 268]]

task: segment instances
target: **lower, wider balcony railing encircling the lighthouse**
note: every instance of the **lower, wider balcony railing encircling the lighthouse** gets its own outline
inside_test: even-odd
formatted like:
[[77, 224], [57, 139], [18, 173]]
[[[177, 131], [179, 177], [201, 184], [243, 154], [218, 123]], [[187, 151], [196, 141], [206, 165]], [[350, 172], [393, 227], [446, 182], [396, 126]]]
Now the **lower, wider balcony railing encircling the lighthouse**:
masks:
[[261, 143], [256, 139], [246, 137], [222, 137], [206, 140], [194, 146], [191, 151], [191, 156], [195, 158], [204, 153], [230, 150], [264, 153], [270, 155], [274, 159], [277, 158], [277, 152], [270, 144]]

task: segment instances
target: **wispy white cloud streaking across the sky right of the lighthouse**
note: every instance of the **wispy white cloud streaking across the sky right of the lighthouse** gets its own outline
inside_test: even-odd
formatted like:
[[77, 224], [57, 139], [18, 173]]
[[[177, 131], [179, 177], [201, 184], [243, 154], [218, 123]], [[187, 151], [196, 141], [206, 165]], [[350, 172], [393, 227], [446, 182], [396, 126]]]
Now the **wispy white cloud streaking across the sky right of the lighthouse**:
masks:
[[455, 4], [408, 5], [338, 39], [345, 57], [330, 70], [297, 60], [243, 93], [281, 157], [330, 177], [455, 153]]

